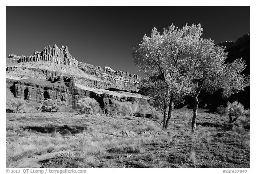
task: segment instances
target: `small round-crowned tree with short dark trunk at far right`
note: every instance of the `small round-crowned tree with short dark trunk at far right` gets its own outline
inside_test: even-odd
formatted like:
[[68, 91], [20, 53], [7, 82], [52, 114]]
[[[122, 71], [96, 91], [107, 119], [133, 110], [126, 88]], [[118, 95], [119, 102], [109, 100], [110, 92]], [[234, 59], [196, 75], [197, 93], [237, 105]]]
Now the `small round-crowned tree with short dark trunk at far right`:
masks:
[[[237, 101], [227, 104], [225, 108], [225, 114], [229, 116], [229, 123], [235, 122], [239, 117], [244, 116], [244, 106]], [[232, 116], [235, 118], [232, 119]]]

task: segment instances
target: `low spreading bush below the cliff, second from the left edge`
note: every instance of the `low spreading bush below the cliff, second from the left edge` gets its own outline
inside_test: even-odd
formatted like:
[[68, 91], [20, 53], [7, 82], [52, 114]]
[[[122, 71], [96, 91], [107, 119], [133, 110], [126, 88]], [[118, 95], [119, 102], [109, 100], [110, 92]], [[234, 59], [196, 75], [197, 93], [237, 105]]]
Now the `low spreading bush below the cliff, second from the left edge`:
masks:
[[47, 99], [44, 101], [41, 109], [43, 112], [57, 112], [62, 105], [64, 105], [63, 101]]

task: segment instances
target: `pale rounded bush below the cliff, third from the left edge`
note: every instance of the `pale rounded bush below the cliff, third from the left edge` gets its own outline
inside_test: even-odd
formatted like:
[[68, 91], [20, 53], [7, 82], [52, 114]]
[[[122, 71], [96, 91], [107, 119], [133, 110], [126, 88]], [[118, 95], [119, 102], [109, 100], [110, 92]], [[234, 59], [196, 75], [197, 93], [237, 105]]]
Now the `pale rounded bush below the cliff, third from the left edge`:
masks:
[[80, 114], [97, 114], [100, 112], [100, 104], [93, 98], [84, 97], [77, 102]]

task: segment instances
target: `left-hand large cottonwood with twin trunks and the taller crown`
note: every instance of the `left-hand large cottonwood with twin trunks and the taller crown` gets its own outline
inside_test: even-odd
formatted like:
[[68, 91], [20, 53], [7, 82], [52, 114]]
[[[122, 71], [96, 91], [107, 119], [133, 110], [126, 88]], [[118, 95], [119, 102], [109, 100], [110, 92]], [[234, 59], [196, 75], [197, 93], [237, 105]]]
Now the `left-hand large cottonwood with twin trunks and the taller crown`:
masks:
[[181, 29], [172, 24], [162, 34], [153, 28], [151, 35], [145, 34], [133, 48], [136, 66], [148, 77], [144, 81], [148, 94], [164, 112], [163, 128], [168, 128], [173, 106], [192, 91], [189, 76], [180, 71], [180, 62], [199, 41], [201, 33], [200, 24]]

